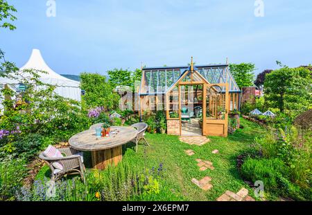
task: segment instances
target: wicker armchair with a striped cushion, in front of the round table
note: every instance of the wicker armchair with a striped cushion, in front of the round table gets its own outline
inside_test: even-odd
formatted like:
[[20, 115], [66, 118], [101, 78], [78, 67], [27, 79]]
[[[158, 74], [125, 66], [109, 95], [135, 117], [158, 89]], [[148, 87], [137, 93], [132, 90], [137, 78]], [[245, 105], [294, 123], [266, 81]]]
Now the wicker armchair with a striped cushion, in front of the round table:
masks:
[[[83, 164], [80, 155], [76, 155], [79, 151], [73, 148], [58, 148], [58, 150], [66, 156], [55, 158], [46, 157], [43, 152], [39, 155], [40, 159], [44, 160], [52, 171], [51, 180], [59, 180], [63, 175], [80, 174], [81, 179], [85, 182], [85, 165]], [[53, 162], [60, 162], [63, 169], [61, 171], [55, 171], [55, 167], [52, 165]]]

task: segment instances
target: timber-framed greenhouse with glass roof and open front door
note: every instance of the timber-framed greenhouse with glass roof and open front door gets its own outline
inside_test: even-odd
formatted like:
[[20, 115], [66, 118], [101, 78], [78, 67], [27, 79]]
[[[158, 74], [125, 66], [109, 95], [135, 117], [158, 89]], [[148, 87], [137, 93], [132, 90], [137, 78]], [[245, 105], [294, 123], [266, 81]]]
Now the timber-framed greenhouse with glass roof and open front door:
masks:
[[[227, 137], [228, 114], [240, 106], [241, 90], [228, 64], [194, 66], [192, 58], [189, 67], [142, 69], [140, 117], [165, 111], [168, 135]], [[200, 132], [190, 132], [198, 130], [196, 123]]]

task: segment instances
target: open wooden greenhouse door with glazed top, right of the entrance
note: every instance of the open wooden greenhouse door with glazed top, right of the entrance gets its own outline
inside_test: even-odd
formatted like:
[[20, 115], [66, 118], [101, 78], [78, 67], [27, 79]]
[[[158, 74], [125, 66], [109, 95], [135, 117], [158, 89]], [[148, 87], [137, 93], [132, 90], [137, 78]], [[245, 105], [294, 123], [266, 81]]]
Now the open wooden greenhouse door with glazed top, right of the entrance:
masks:
[[227, 137], [229, 84], [204, 84], [202, 135]]

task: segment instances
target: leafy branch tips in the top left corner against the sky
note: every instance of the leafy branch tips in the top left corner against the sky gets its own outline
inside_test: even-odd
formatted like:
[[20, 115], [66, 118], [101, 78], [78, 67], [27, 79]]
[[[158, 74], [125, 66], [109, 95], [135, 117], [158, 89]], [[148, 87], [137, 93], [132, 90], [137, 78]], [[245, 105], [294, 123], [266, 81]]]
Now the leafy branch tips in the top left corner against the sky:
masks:
[[16, 27], [9, 22], [6, 22], [6, 19], [10, 21], [15, 21], [17, 18], [12, 14], [17, 12], [14, 6], [10, 6], [8, 1], [0, 0], [0, 28], [9, 28], [11, 31], [15, 30]]

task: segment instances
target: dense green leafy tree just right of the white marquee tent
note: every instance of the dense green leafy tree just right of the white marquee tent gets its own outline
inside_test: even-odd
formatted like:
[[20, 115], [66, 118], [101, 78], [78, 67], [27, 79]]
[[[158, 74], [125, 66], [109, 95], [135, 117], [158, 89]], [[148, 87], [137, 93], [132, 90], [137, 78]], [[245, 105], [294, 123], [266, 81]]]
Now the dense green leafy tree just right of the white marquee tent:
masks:
[[118, 107], [119, 96], [114, 92], [114, 85], [107, 82], [106, 77], [100, 74], [80, 74], [80, 87], [85, 90], [82, 96], [83, 107], [104, 107], [112, 110]]

